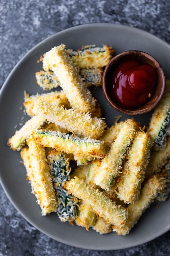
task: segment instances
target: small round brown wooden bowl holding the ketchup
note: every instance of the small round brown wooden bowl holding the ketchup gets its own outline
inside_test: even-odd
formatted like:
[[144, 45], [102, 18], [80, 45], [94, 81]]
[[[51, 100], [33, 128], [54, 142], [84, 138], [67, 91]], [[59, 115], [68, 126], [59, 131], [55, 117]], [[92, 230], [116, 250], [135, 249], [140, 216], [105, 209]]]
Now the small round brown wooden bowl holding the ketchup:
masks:
[[[130, 110], [120, 106], [116, 102], [116, 99], [114, 100], [114, 96], [112, 95], [111, 91], [111, 75], [120, 63], [129, 59], [134, 59], [140, 61], [143, 64], [148, 64], [154, 67], [158, 74], [158, 83], [156, 85], [154, 94], [145, 104]], [[161, 100], [165, 89], [165, 75], [163, 73], [163, 69], [160, 63], [150, 54], [145, 53], [143, 51], [124, 51], [113, 57], [105, 67], [102, 78], [102, 88], [107, 101], [111, 104], [113, 108], [127, 115], [140, 115], [150, 112], [152, 109], [156, 107], [158, 102]]]

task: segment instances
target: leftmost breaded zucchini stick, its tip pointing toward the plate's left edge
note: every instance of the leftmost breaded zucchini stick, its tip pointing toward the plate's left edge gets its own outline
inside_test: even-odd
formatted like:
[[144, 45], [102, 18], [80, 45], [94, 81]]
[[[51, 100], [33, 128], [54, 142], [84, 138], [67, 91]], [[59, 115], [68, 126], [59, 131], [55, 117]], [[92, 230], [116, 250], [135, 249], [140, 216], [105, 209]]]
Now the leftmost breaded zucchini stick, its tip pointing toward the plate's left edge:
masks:
[[20, 150], [22, 146], [26, 144], [26, 141], [29, 139], [30, 135], [42, 127], [45, 119], [42, 119], [40, 116], [34, 116], [29, 119], [25, 125], [19, 131], [16, 131], [15, 134], [9, 138], [8, 146], [13, 150]]

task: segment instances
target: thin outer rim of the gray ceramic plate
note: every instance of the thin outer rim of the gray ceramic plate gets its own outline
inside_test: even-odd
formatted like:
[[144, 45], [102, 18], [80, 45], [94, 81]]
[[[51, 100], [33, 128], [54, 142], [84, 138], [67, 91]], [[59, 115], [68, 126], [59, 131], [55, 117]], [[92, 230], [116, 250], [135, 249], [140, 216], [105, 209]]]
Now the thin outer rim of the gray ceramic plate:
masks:
[[[101, 27], [101, 26], [103, 26], [103, 27], [105, 27], [105, 26], [108, 27], [108, 26], [110, 26], [110, 27], [114, 27], [114, 28], [117, 27], [117, 29], [118, 29], [118, 28], [126, 28], [126, 30], [134, 30], [134, 31], [136, 31], [136, 32], [140, 32], [140, 33], [145, 34], [145, 35], [148, 34], [148, 35], [151, 36], [154, 40], [158, 40], [158, 42], [160, 41], [161, 43], [165, 44], [165, 46], [167, 46], [167, 47], [169, 48], [169, 50], [170, 50], [170, 45], [169, 45], [167, 42], [165, 42], [164, 40], [162, 40], [161, 38], [159, 38], [159, 37], [157, 37], [157, 36], [155, 36], [155, 35], [153, 35], [153, 34], [147, 32], [147, 31], [145, 31], [145, 30], [142, 30], [142, 29], [140, 29], [140, 28], [135, 28], [135, 27], [131, 27], [131, 26], [128, 26], [128, 25], [114, 24], [114, 23], [87, 23], [87, 24], [81, 24], [81, 25], [78, 25], [78, 26], [73, 26], [73, 27], [70, 27], [70, 28], [61, 30], [61, 31], [59, 31], [59, 32], [56, 32], [56, 33], [52, 34], [51, 36], [46, 37], [44, 40], [42, 40], [41, 42], [39, 42], [38, 44], [36, 44], [33, 48], [31, 48], [31, 49], [18, 61], [18, 63], [16, 63], [16, 65], [15, 65], [14, 68], [10, 71], [8, 77], [6, 78], [5, 82], [3, 83], [3, 85], [2, 85], [2, 87], [1, 87], [1, 89], [0, 89], [0, 101], [1, 101], [1, 98], [3, 98], [3, 91], [5, 90], [5, 87], [6, 87], [6, 85], [8, 84], [8, 81], [10, 80], [10, 77], [12, 76], [12, 74], [15, 72], [16, 69], [18, 69], [18, 67], [22, 64], [22, 62], [25, 61], [25, 59], [27, 58], [27, 56], [29, 56], [35, 49], [37, 49], [37, 48], [39, 48], [39, 46], [45, 44], [48, 40], [51, 40], [52, 38], [55, 38], [56, 36], [61, 35], [62, 33], [65, 34], [65, 32], [67, 32], [67, 31], [71, 31], [71, 30], [73, 31], [73, 30], [76, 30], [77, 28], [93, 27], [93, 26], [95, 26], [95, 27], [96, 27], [96, 26], [97, 26], [97, 27]], [[25, 220], [27, 220], [27, 222], [29, 222], [29, 223], [30, 223], [32, 226], [34, 226], [37, 230], [39, 230], [39, 231], [42, 232], [43, 234], [49, 236], [50, 238], [52, 238], [52, 239], [54, 239], [54, 240], [56, 240], [56, 241], [61, 242], [61, 243], [64, 243], [64, 244], [67, 244], [67, 245], [70, 245], [70, 246], [73, 246], [73, 247], [76, 247], [76, 248], [80, 248], [80, 249], [89, 249], [89, 250], [94, 250], [94, 251], [96, 250], [96, 249], [94, 249], [93, 246], [89, 246], [89, 247], [87, 248], [86, 246], [83, 246], [83, 245], [75, 245], [74, 243], [69, 242], [69, 241], [65, 241], [65, 240], [63, 240], [62, 238], [59, 238], [59, 237], [57, 237], [57, 239], [56, 239], [56, 237], [54, 237], [53, 235], [49, 234], [48, 231], [44, 231], [42, 228], [37, 227], [37, 224], [36, 224], [34, 221], [30, 220], [29, 218], [27, 218], [27, 216], [26, 216], [24, 213], [22, 213], [22, 210], [20, 210], [20, 207], [15, 203], [15, 200], [12, 199], [11, 195], [8, 193], [8, 191], [7, 191], [6, 187], [5, 187], [5, 185], [3, 184], [3, 181], [1, 180], [1, 166], [0, 166], [0, 183], [1, 183], [1, 186], [2, 186], [2, 188], [3, 188], [4, 192], [5, 192], [5, 194], [7, 195], [8, 199], [10, 200], [10, 202], [12, 203], [12, 205], [14, 206], [14, 208], [16, 208], [16, 210], [21, 214], [21, 216], [24, 217]], [[126, 246], [123, 246], [123, 245], [122, 245], [121, 248], [115, 246], [115, 248], [112, 249], [112, 250], [126, 249], [126, 248], [131, 248], [131, 247], [139, 246], [139, 245], [141, 245], [141, 244], [145, 244], [145, 243], [147, 243], [147, 242], [149, 242], [149, 241], [152, 241], [152, 240], [154, 240], [155, 238], [158, 238], [159, 236], [165, 234], [165, 233], [166, 233], [167, 231], [169, 231], [169, 230], [170, 230], [170, 223], [169, 223], [169, 225], [167, 226], [166, 229], [164, 229], [164, 230], [162, 230], [162, 231], [160, 231], [160, 232], [155, 233], [154, 236], [152, 236], [152, 238], [150, 238], [150, 239], [147, 239], [147, 238], [146, 238], [146, 239], [143, 239], [142, 242], [132, 242], [131, 245], [129, 245], [129, 246], [127, 246], [127, 245], [126, 245]], [[108, 249], [106, 249], [106, 248], [97, 249], [97, 251], [108, 251]]]

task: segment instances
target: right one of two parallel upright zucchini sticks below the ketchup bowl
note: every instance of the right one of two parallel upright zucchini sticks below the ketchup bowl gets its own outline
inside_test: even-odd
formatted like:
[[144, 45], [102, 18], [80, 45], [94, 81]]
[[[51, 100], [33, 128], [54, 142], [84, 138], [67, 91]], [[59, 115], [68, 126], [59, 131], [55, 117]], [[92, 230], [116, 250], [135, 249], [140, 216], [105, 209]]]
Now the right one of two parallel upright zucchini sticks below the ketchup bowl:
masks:
[[122, 170], [123, 178], [116, 193], [124, 203], [134, 203], [138, 199], [149, 157], [150, 135], [138, 131], [128, 151]]

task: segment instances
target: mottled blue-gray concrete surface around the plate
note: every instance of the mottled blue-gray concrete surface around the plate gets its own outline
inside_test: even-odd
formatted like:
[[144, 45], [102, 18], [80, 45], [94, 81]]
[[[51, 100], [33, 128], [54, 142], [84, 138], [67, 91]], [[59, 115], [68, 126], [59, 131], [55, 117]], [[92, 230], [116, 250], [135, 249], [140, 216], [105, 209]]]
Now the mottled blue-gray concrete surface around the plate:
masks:
[[[33, 46], [65, 28], [108, 22], [141, 28], [170, 42], [170, 1], [0, 0], [0, 87]], [[90, 251], [59, 243], [31, 226], [0, 187], [2, 255], [170, 255], [170, 232], [141, 246], [119, 251]], [[167, 212], [167, 214], [169, 214]], [[156, 223], [155, 223], [156, 224]]]

